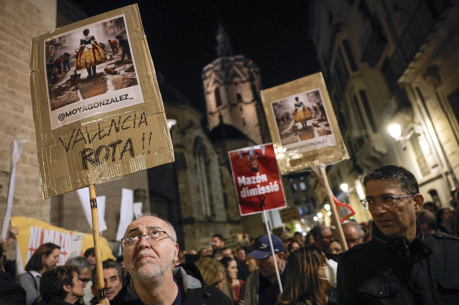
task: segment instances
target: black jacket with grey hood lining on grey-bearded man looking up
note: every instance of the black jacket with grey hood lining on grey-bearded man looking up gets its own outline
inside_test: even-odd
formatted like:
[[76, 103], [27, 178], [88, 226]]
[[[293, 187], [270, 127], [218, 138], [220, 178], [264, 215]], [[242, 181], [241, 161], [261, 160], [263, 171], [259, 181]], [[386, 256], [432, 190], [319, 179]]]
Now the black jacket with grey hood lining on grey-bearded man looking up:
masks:
[[[231, 301], [220, 289], [207, 285], [199, 272], [198, 267], [192, 263], [183, 263], [172, 268], [174, 278], [181, 278], [185, 297], [182, 305], [230, 305]], [[143, 305], [134, 289], [134, 281], [123, 285], [110, 305]]]

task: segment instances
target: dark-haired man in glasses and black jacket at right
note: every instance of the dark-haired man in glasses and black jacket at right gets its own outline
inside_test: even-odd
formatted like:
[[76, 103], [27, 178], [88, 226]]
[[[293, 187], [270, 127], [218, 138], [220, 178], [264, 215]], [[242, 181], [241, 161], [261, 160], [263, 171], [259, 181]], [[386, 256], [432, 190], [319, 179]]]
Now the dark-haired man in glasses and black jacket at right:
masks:
[[416, 223], [424, 197], [407, 169], [383, 165], [364, 178], [372, 239], [338, 264], [338, 304], [459, 304], [459, 239]]

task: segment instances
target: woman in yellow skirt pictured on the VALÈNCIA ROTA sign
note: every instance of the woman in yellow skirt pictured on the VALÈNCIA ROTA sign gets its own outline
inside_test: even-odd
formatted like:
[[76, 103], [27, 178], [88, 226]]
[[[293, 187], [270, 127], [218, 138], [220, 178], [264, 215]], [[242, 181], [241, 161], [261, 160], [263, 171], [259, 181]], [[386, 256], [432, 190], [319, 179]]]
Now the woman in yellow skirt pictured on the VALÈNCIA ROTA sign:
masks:
[[96, 66], [107, 60], [104, 50], [97, 43], [94, 36], [89, 34], [88, 29], [83, 31], [83, 38], [80, 40], [80, 48], [76, 56], [75, 73], [77, 70], [86, 69], [88, 78], [97, 76]]

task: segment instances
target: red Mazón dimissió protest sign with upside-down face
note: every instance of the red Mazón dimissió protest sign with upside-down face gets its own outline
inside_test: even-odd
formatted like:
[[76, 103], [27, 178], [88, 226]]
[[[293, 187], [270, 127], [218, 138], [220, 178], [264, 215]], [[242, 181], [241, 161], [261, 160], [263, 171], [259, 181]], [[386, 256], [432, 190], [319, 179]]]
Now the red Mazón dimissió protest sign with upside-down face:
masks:
[[286, 207], [272, 143], [228, 154], [241, 216]]

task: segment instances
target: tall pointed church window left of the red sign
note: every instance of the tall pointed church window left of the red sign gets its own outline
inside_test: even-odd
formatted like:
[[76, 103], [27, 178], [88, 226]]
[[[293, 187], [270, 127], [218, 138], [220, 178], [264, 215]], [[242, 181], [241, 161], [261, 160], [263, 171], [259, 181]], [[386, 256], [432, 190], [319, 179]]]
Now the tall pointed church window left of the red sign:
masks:
[[197, 138], [194, 145], [194, 156], [196, 160], [196, 174], [198, 182], [198, 191], [201, 202], [202, 215], [212, 216], [210, 202], [210, 173], [209, 173], [209, 157], [207, 155], [206, 146], [201, 138]]

